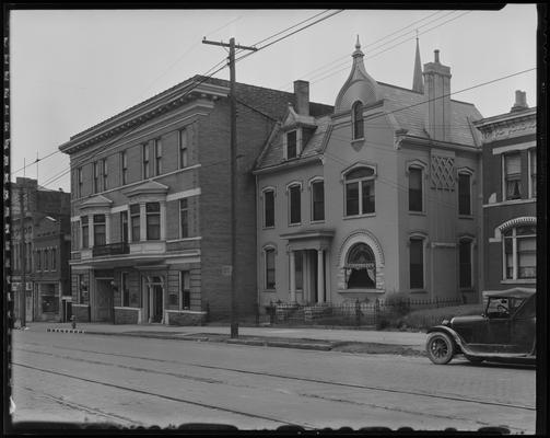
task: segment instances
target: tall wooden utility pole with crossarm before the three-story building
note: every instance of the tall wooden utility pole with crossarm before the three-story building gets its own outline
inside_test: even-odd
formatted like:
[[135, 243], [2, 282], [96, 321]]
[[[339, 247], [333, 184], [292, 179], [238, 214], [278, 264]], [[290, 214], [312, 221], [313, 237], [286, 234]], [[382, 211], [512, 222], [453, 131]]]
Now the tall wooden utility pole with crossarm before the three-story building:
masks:
[[230, 48], [229, 66], [230, 66], [230, 107], [231, 107], [231, 337], [238, 337], [238, 303], [236, 291], [236, 185], [237, 185], [237, 112], [235, 96], [235, 48], [242, 50], [256, 51], [256, 47], [247, 47], [235, 45], [235, 38], [231, 38], [230, 43], [211, 42], [204, 37], [202, 44], [211, 44], [213, 46], [222, 46]]

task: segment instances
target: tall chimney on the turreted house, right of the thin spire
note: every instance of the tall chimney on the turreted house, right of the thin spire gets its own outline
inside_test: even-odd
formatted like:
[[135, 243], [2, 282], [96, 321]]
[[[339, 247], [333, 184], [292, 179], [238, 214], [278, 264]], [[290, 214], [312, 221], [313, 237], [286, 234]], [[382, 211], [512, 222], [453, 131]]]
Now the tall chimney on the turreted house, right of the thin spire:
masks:
[[434, 50], [433, 62], [424, 64], [423, 76], [428, 101], [426, 130], [434, 140], [449, 141], [450, 68], [440, 62], [440, 50]]

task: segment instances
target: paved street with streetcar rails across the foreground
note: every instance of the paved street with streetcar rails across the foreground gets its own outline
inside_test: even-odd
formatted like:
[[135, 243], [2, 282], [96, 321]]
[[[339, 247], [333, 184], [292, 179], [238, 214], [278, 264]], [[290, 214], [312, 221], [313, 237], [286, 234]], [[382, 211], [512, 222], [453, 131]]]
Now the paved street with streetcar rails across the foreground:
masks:
[[535, 431], [535, 371], [425, 358], [15, 331], [14, 420]]

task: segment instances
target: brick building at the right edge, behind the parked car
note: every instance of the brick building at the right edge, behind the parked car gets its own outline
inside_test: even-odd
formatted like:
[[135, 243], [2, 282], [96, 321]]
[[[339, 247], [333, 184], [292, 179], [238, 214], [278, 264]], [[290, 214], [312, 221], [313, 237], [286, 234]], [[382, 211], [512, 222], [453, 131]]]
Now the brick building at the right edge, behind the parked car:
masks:
[[476, 127], [483, 135], [484, 288], [536, 287], [537, 110], [516, 91], [510, 113]]

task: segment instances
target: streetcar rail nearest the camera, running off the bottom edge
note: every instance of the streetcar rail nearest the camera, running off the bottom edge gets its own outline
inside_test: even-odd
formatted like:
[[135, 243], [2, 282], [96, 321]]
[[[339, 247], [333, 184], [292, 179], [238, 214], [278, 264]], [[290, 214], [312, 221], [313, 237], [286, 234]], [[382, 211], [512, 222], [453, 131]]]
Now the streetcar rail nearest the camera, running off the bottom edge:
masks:
[[54, 371], [54, 370], [37, 368], [37, 367], [33, 367], [31, 365], [19, 364], [19, 362], [12, 362], [12, 364], [16, 365], [19, 367], [33, 369], [33, 370], [39, 371], [39, 372], [50, 373], [50, 374], [55, 374], [55, 376], [61, 376], [61, 377], [66, 377], [66, 378], [74, 379], [74, 380], [82, 380], [84, 382], [95, 383], [95, 384], [100, 384], [100, 385], [108, 387], [108, 388], [116, 388], [118, 390], [128, 391], [128, 392], [134, 392], [134, 393], [142, 394], [142, 395], [155, 396], [155, 397], [159, 397], [159, 399], [168, 400], [171, 402], [191, 404], [191, 405], [195, 405], [195, 406], [206, 407], [206, 408], [214, 410], [214, 411], [227, 412], [227, 413], [231, 413], [231, 414], [242, 415], [242, 416], [250, 417], [250, 418], [267, 419], [269, 422], [280, 423], [282, 425], [301, 426], [301, 427], [304, 427], [306, 429], [315, 429], [315, 427], [308, 426], [306, 424], [297, 424], [297, 423], [292, 423], [292, 422], [285, 422], [285, 420], [281, 420], [281, 419], [278, 419], [278, 418], [268, 417], [268, 416], [265, 416], [265, 415], [250, 414], [250, 413], [247, 413], [247, 412], [242, 412], [242, 411], [237, 411], [237, 410], [231, 410], [229, 407], [222, 407], [222, 406], [217, 406], [217, 405], [213, 405], [213, 404], [195, 402], [192, 400], [186, 400], [186, 399], [182, 399], [182, 397], [175, 397], [175, 396], [160, 394], [160, 393], [155, 393], [155, 392], [151, 392], [151, 391], [143, 391], [143, 390], [139, 390], [139, 389], [136, 389], [136, 388], [124, 387], [121, 384], [102, 382], [100, 380], [83, 378], [83, 377], [79, 377], [79, 376], [72, 376], [72, 374], [69, 374], [69, 373], [66, 373], [66, 372], [59, 372], [59, 371]]

